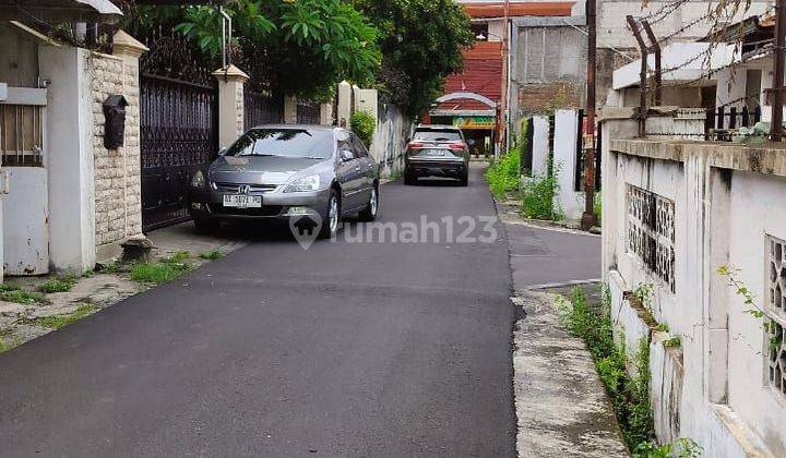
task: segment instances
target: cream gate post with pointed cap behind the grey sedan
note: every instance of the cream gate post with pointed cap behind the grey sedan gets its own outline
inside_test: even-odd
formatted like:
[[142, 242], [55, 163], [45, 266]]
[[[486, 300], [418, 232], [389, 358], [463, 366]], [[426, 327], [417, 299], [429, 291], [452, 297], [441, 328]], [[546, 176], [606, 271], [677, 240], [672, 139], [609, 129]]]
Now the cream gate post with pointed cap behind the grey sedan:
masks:
[[235, 65], [213, 72], [218, 80], [218, 146], [227, 147], [246, 128], [243, 85], [249, 76]]

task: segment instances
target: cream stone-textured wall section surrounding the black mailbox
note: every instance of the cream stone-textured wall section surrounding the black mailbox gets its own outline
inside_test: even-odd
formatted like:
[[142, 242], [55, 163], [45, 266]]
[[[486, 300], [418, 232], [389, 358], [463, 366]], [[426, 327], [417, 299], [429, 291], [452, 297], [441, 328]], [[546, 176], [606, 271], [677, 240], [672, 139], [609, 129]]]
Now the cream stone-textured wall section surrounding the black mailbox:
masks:
[[[96, 245], [102, 246], [142, 233], [138, 61], [94, 53], [92, 91]], [[123, 95], [129, 104], [126, 137], [123, 146], [107, 149], [103, 104], [114, 94]]]

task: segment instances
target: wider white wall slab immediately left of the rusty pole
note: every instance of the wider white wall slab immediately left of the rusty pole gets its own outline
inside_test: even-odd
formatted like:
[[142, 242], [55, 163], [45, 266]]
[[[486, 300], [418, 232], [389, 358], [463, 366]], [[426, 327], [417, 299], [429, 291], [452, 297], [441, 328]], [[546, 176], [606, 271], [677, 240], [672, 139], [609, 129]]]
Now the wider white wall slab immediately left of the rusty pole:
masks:
[[553, 161], [559, 193], [557, 202], [568, 220], [581, 219], [584, 213], [584, 193], [575, 191], [576, 147], [579, 136], [579, 112], [557, 110], [555, 112]]

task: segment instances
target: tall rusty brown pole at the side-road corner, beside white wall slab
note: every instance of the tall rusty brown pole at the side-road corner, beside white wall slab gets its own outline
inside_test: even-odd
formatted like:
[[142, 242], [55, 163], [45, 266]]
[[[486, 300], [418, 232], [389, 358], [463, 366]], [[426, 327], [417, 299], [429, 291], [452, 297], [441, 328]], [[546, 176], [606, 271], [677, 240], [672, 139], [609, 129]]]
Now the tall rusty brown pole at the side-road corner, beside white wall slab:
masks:
[[[786, 1], [786, 0], [781, 0]], [[584, 155], [584, 214], [581, 226], [590, 230], [595, 226], [595, 58], [597, 55], [595, 27], [595, 0], [586, 0], [587, 19], [587, 131], [590, 133], [590, 147]], [[579, 120], [581, 122], [581, 120]]]

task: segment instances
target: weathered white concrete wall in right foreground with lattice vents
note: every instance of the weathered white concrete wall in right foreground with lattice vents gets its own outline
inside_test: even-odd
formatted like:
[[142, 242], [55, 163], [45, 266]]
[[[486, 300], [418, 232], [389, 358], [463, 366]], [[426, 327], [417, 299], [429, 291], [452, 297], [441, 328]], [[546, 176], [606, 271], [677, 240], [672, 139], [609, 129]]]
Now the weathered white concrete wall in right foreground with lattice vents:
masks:
[[[658, 438], [693, 438], [704, 456], [786, 456], [786, 395], [770, 386], [764, 321], [746, 313], [749, 306], [716, 273], [720, 265], [738, 269], [757, 305], [783, 323], [784, 313], [765, 304], [766, 236], [786, 240], [782, 152], [614, 141], [635, 134], [630, 119], [605, 119], [604, 131], [604, 278], [618, 336], [648, 343]], [[674, 203], [674, 290], [630, 249], [630, 185]], [[667, 230], [667, 214], [658, 213], [658, 230]], [[624, 292], [643, 282], [655, 287], [645, 305], [668, 325], [668, 336], [655, 334], [627, 300]], [[666, 350], [670, 336], [681, 345]]]

